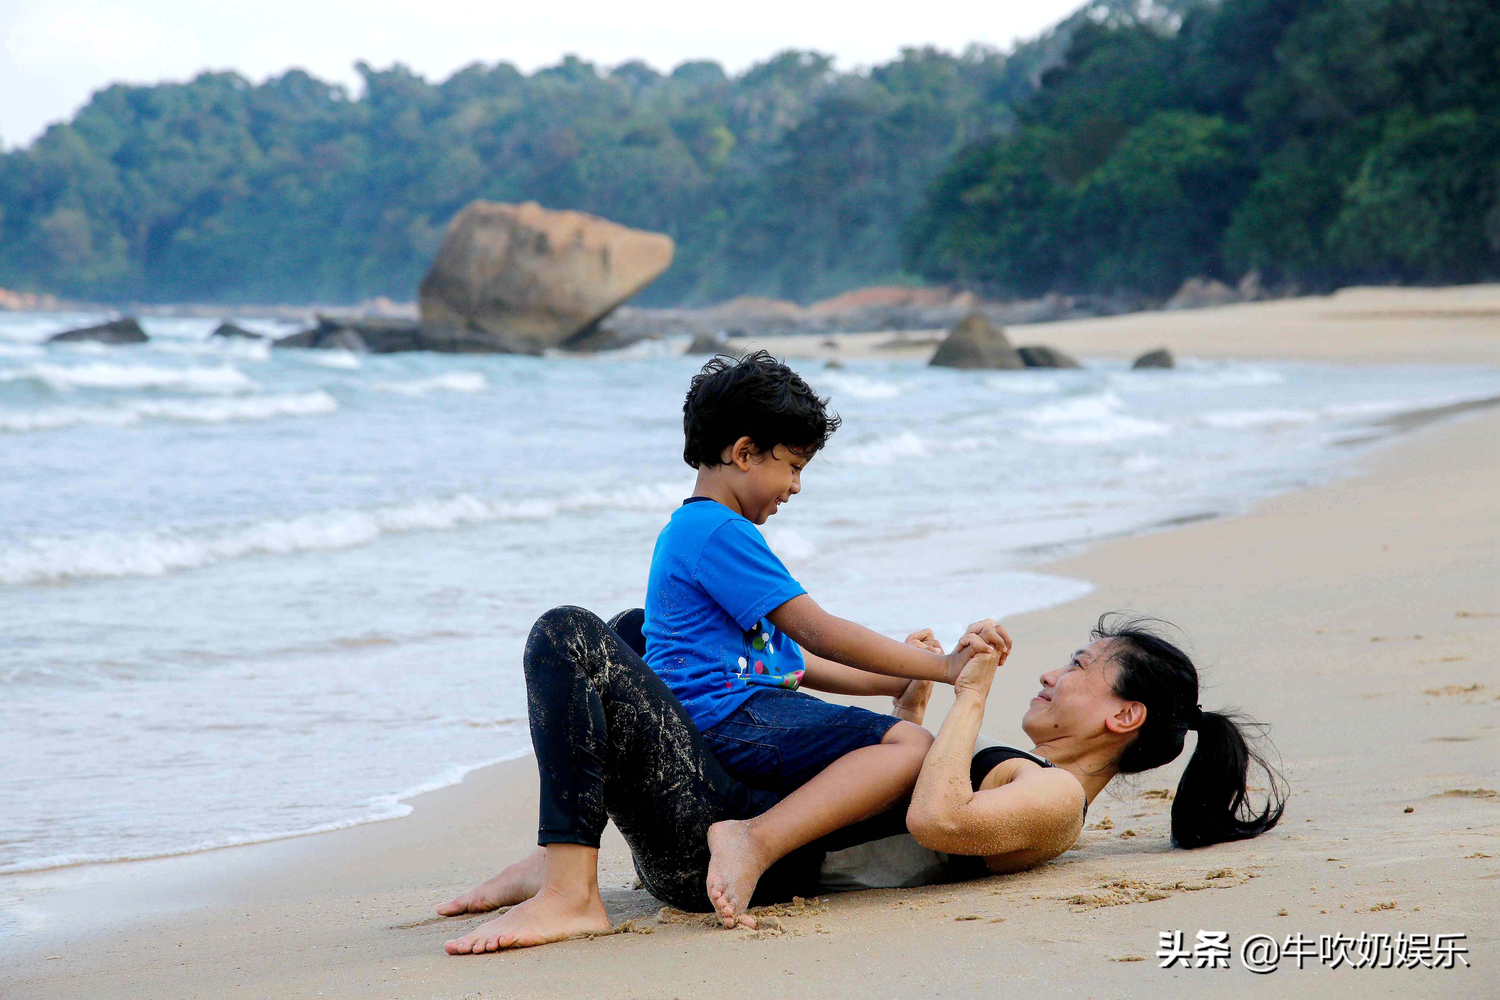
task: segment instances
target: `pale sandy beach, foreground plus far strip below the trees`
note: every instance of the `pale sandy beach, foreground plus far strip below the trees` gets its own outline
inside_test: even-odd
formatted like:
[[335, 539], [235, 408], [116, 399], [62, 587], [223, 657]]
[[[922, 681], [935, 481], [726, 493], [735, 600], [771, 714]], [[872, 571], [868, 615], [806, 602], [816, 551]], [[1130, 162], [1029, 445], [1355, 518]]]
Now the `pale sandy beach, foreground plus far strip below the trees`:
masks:
[[[1326, 298], [1012, 327], [1017, 343], [1130, 355], [1500, 363], [1500, 286], [1352, 289]], [[792, 357], [930, 351], [892, 334], [777, 339]], [[804, 343], [806, 340], [806, 343]], [[921, 343], [928, 340], [927, 343]], [[742, 346], [736, 343], [735, 346]], [[1116, 783], [1074, 850], [1036, 871], [830, 897], [780, 930], [662, 921], [610, 829], [602, 886], [622, 933], [452, 958], [486, 918], [434, 907], [536, 834], [530, 757], [412, 802], [411, 816], [183, 858], [0, 877], [20, 925], [8, 997], [1436, 996], [1500, 991], [1500, 412], [1410, 427], [1352, 475], [1246, 516], [1104, 541], [1036, 567], [1089, 595], [1006, 622], [1017, 651], [986, 732], [1020, 742], [1036, 675], [1106, 610], [1180, 625], [1206, 709], [1272, 726], [1293, 795], [1248, 843], [1184, 852], [1180, 765]], [[1024, 471], [1017, 471], [1024, 474]], [[454, 697], [462, 697], [456, 685]], [[928, 726], [946, 709], [933, 699]], [[872, 708], [882, 709], [879, 705]], [[1161, 931], [1227, 931], [1230, 969], [1162, 970]], [[1470, 967], [1240, 966], [1252, 934], [1466, 934]]]

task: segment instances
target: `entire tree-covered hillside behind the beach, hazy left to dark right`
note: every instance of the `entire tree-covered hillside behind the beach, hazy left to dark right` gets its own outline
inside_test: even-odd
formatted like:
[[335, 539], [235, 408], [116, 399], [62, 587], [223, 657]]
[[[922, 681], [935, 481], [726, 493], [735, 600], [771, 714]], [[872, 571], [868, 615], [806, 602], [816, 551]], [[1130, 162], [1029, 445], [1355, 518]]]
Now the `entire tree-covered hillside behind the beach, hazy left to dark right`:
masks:
[[357, 97], [296, 70], [100, 90], [0, 153], [0, 286], [411, 298], [474, 198], [670, 234], [654, 304], [1500, 273], [1496, 0], [1101, 0], [1010, 54], [864, 72], [360, 72]]

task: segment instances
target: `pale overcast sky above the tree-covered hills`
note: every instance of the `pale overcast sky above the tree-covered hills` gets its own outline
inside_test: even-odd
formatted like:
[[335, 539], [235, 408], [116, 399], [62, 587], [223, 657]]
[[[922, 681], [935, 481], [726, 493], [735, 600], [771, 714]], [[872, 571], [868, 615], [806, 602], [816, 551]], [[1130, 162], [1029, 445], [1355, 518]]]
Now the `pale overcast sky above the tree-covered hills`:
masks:
[[784, 48], [868, 66], [906, 45], [1000, 48], [1083, 0], [0, 0], [0, 142], [24, 145], [116, 81], [236, 69], [254, 81], [302, 67], [357, 84], [354, 61], [400, 61], [429, 79], [468, 63], [531, 72], [573, 52], [657, 69], [714, 58], [730, 72]]

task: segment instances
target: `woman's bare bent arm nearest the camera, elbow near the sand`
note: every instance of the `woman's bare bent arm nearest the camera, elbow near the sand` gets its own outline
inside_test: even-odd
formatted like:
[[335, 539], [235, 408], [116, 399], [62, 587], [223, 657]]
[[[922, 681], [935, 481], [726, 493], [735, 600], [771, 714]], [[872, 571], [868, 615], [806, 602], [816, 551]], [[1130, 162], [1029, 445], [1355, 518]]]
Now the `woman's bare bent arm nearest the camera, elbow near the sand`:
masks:
[[954, 706], [916, 778], [906, 828], [932, 850], [987, 858], [1020, 853], [1028, 864], [1040, 864], [1077, 840], [1083, 790], [1072, 775], [1035, 765], [1016, 765], [1014, 777], [1000, 787], [974, 790], [974, 741], [1000, 663], [1000, 657], [978, 655], [958, 676]]

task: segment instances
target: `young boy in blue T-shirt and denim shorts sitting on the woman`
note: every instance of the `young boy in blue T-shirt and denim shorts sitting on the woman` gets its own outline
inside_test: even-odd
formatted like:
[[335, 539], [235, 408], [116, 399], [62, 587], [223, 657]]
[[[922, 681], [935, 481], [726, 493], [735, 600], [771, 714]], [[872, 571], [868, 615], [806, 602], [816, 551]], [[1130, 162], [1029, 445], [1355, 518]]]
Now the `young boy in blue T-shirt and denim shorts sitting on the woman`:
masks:
[[765, 351], [705, 364], [682, 406], [698, 483], [662, 529], [646, 582], [646, 663], [730, 775], [786, 795], [708, 831], [708, 897], [724, 927], [753, 927], [746, 910], [772, 862], [909, 793], [932, 745], [912, 723], [798, 688], [902, 697], [1008, 645], [988, 621], [946, 657], [921, 633], [898, 643], [820, 609], [776, 558], [754, 526], [801, 492], [840, 423], [825, 406]]

